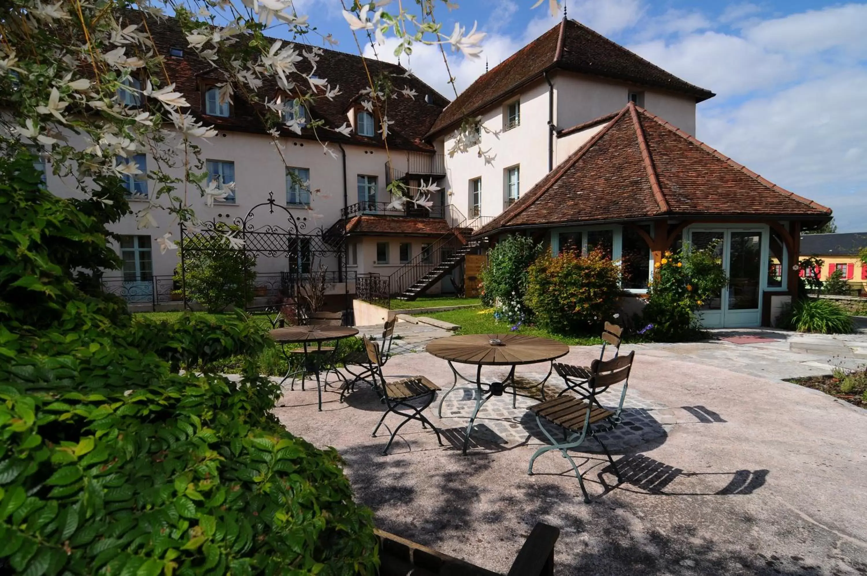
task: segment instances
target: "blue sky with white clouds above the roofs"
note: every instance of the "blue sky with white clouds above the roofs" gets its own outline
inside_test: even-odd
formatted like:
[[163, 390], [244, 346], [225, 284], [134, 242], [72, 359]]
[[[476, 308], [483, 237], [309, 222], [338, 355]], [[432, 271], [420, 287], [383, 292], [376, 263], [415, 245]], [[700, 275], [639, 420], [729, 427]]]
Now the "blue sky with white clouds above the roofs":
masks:
[[[406, 2], [405, 2], [406, 3]], [[458, 91], [555, 25], [547, 2], [457, 0], [436, 15], [450, 33], [477, 22], [479, 60], [447, 52]], [[355, 51], [340, 0], [295, 0], [310, 23]], [[349, 4], [349, 2], [347, 2]], [[562, 4], [562, 3], [561, 3]], [[834, 209], [840, 232], [867, 230], [867, 3], [568, 0], [571, 18], [716, 96], [698, 106], [697, 137], [792, 192]], [[366, 45], [394, 61], [394, 43]], [[310, 36], [314, 42], [314, 36]], [[453, 98], [439, 49], [401, 64]]]

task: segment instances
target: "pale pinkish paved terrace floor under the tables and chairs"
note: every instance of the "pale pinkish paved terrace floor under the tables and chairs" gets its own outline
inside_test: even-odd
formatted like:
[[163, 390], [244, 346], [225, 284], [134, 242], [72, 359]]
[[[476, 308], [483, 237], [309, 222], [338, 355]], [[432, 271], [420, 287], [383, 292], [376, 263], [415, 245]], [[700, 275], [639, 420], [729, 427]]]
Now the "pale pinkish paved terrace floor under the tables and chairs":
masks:
[[[779, 380], [826, 373], [833, 360], [792, 351], [790, 337], [798, 339], [636, 345], [629, 425], [610, 438], [623, 484], [595, 447], [572, 451], [590, 505], [557, 452], [526, 475], [544, 443], [527, 416], [530, 399], [517, 409], [511, 396], [487, 403], [466, 457], [472, 390], [448, 396], [442, 419], [436, 403], [427, 409], [444, 447], [411, 422], [388, 456], [388, 436], [369, 435], [381, 404], [366, 386], [346, 403], [329, 389], [322, 413], [315, 389], [287, 391], [275, 413], [291, 432], [337, 448], [379, 527], [494, 571], [505, 572], [544, 521], [562, 530], [557, 574], [864, 574], [867, 411]], [[864, 342], [846, 338], [849, 349]], [[597, 354], [573, 347], [565, 359], [586, 364]], [[426, 352], [395, 356], [385, 371], [452, 383], [447, 363]], [[531, 383], [541, 374], [529, 367], [518, 376]]]

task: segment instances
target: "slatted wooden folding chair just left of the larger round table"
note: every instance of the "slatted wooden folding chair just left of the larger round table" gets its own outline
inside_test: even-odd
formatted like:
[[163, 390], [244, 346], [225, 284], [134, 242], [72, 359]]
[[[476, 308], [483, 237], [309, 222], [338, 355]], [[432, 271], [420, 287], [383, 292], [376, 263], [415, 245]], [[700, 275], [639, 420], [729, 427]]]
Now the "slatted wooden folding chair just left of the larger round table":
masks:
[[[371, 342], [368, 337], [362, 337], [364, 349], [368, 352], [370, 363], [374, 366], [374, 376], [379, 379], [379, 384], [374, 390], [380, 396], [382, 403], [385, 404], [385, 414], [382, 415], [380, 421], [376, 424], [373, 432], [373, 437], [376, 437], [376, 431], [385, 421], [388, 413], [394, 413], [398, 416], [403, 416], [404, 421], [394, 428], [391, 433], [391, 438], [388, 439], [388, 444], [382, 450], [382, 455], [388, 455], [388, 448], [391, 448], [391, 443], [394, 442], [394, 436], [403, 428], [403, 425], [410, 420], [418, 420], [421, 422], [421, 428], [425, 428], [425, 424], [433, 429], [436, 434], [437, 442], [442, 446], [442, 438], [440, 431], [436, 429], [433, 423], [427, 419], [422, 412], [427, 409], [433, 402], [434, 396], [440, 390], [440, 387], [428, 380], [425, 376], [410, 376], [393, 382], [386, 382], [385, 376], [382, 376], [382, 365], [380, 363], [380, 350], [375, 342]], [[412, 404], [414, 401], [421, 401], [420, 406]]]

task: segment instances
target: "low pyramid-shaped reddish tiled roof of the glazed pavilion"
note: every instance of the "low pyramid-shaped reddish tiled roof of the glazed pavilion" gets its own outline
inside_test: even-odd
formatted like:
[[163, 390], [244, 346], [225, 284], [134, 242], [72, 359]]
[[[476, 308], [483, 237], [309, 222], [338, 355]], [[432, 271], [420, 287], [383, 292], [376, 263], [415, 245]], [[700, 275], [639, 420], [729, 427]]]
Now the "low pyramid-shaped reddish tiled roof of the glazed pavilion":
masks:
[[670, 215], [818, 219], [830, 213], [630, 102], [475, 235]]

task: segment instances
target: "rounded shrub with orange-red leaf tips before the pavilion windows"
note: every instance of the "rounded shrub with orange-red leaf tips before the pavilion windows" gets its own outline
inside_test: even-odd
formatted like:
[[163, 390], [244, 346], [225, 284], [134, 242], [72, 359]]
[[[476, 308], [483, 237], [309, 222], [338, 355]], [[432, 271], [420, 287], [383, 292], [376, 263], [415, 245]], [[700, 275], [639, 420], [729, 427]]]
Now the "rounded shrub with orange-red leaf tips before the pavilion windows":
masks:
[[544, 253], [528, 271], [525, 303], [551, 331], [595, 330], [615, 312], [619, 279], [620, 268], [601, 251]]

